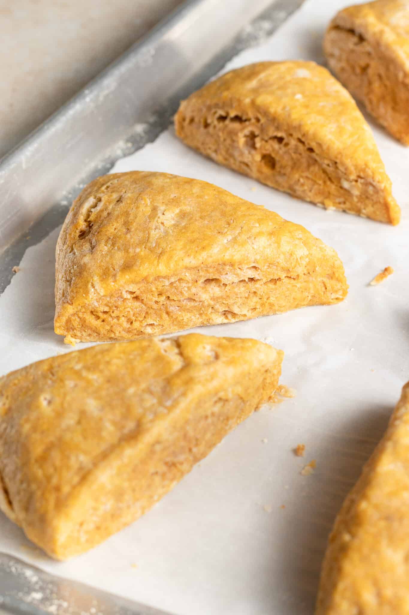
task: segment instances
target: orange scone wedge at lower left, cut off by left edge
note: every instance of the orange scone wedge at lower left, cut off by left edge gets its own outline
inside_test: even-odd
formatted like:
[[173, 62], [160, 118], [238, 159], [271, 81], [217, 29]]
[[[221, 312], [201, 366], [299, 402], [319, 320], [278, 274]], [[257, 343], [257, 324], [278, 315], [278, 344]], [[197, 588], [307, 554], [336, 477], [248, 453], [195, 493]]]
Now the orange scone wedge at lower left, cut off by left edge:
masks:
[[269, 399], [283, 352], [191, 334], [102, 344], [0, 379], [0, 507], [63, 560], [136, 520]]

